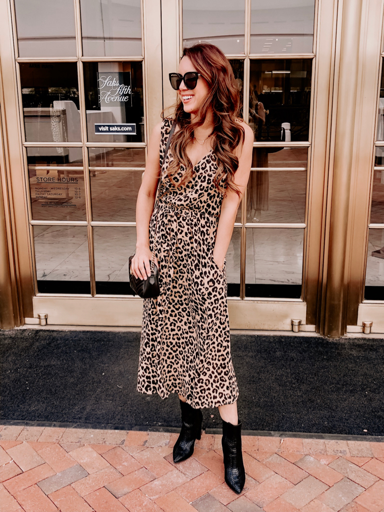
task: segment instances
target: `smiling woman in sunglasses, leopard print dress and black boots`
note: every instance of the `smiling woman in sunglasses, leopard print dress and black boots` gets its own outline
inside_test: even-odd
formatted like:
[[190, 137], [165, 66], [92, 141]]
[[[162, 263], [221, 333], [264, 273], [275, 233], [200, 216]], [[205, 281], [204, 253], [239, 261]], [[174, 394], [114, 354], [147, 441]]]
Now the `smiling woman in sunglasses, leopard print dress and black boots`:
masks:
[[[178, 393], [182, 426], [175, 462], [190, 457], [201, 437], [200, 408], [218, 407], [225, 481], [240, 493], [245, 472], [225, 254], [247, 186], [253, 132], [237, 117], [239, 91], [216, 46], [185, 48], [179, 74], [169, 78], [178, 91], [175, 116], [153, 130], [136, 207], [132, 271], [147, 279], [154, 251], [160, 285], [159, 297], [144, 300], [137, 391], [161, 398]], [[154, 208], [160, 161], [174, 122]]]

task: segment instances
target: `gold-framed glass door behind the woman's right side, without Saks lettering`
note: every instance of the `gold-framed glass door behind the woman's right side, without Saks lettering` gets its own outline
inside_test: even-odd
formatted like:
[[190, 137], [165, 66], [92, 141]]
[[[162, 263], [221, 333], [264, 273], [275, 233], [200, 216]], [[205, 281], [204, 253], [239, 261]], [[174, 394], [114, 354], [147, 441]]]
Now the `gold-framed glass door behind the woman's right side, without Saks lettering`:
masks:
[[310, 210], [318, 178], [314, 112], [325, 106], [319, 96], [314, 101], [321, 79], [317, 3], [183, 0], [178, 7], [178, 57], [195, 42], [221, 48], [242, 98], [240, 115], [254, 132], [251, 174], [227, 253], [231, 326], [288, 330], [298, 320], [302, 330], [315, 330], [308, 325], [314, 314], [307, 315], [306, 279], [308, 228], [319, 220]]

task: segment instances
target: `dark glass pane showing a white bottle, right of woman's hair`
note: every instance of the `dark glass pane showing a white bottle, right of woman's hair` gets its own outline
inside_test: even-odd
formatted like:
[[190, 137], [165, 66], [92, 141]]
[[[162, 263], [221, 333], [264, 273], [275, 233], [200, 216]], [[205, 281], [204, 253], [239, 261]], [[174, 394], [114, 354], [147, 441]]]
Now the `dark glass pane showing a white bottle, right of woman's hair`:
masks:
[[254, 140], [307, 141], [312, 59], [250, 61], [249, 125]]

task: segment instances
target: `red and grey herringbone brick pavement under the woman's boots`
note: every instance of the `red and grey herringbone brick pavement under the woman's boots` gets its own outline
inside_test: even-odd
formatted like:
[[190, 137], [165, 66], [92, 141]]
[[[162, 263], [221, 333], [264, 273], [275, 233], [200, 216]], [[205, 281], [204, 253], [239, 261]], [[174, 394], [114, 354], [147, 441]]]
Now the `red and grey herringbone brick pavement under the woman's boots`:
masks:
[[0, 512], [384, 511], [384, 443], [243, 436], [237, 495], [220, 435], [174, 464], [177, 437], [0, 425]]

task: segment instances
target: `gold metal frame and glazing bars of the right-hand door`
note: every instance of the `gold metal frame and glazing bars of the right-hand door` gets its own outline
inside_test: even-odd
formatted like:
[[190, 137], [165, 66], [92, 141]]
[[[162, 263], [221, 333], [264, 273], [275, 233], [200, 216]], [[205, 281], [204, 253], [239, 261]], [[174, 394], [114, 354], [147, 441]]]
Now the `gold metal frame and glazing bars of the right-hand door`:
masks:
[[[263, 58], [263, 54], [251, 54], [250, 44], [251, 0], [245, 1], [245, 54], [227, 55], [228, 58], [244, 59], [244, 112], [248, 111], [249, 62]], [[315, 3], [313, 54], [274, 54], [276, 58], [312, 58], [312, 93], [310, 106], [309, 142], [267, 143], [255, 142], [254, 147], [300, 146], [308, 147], [308, 175], [305, 224], [247, 223], [248, 227], [300, 227], [305, 228], [307, 244], [304, 244], [302, 297], [296, 299], [254, 300], [246, 298], [245, 288], [245, 205], [243, 199], [241, 224], [241, 291], [240, 298], [228, 298], [230, 326], [232, 329], [292, 330], [291, 319], [301, 319], [301, 331], [315, 331], [318, 323], [318, 305], [321, 298], [319, 280], [322, 274], [326, 206], [326, 183], [329, 162], [330, 122], [332, 111], [332, 87], [334, 72], [334, 48], [336, 42], [337, 2], [319, 0]], [[177, 69], [182, 54], [182, 0], [162, 0], [163, 83], [164, 106], [172, 105], [175, 93], [166, 86], [168, 73]], [[314, 137], [314, 134], [316, 136]], [[310, 240], [310, 243], [308, 241]]]

